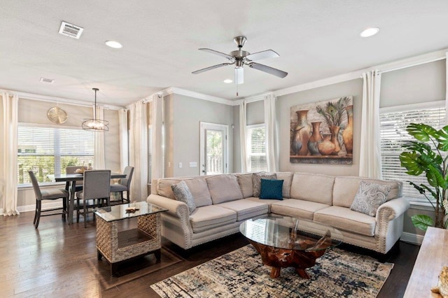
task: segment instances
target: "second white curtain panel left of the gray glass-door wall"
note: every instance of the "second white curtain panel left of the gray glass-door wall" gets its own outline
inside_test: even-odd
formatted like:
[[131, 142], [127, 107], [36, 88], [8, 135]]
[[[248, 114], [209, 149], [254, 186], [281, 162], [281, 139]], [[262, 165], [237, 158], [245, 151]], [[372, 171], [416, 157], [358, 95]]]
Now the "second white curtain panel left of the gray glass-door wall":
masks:
[[133, 201], [148, 197], [148, 124], [146, 104], [137, 101], [130, 108], [130, 165], [134, 166], [131, 181]]

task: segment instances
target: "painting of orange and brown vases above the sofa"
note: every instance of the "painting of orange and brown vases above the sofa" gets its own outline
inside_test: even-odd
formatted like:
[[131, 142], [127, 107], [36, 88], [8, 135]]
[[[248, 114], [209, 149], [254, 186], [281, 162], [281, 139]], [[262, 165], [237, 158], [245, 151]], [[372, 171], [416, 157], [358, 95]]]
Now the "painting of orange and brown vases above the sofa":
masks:
[[290, 162], [353, 163], [353, 97], [290, 108]]

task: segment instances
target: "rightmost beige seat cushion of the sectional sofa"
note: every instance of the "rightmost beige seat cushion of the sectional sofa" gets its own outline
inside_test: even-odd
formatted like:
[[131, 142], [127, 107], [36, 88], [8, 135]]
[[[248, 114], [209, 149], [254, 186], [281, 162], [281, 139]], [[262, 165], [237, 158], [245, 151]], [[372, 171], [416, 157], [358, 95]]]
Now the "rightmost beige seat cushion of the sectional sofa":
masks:
[[365, 236], [374, 236], [376, 226], [376, 220], [372, 216], [340, 206], [330, 206], [316, 211], [314, 221]]

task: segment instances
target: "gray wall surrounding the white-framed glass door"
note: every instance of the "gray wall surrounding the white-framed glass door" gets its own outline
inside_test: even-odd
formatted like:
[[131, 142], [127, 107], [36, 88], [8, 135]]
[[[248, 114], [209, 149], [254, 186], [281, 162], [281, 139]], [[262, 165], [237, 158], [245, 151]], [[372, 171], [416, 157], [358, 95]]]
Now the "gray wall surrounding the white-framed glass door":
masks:
[[[184, 95], [165, 97], [165, 130], [167, 154], [165, 169], [167, 177], [200, 175], [200, 122], [228, 125], [228, 169], [233, 170], [233, 107]], [[179, 162], [183, 164], [179, 168]], [[190, 162], [197, 167], [190, 168]], [[169, 166], [168, 166], [169, 165]]]

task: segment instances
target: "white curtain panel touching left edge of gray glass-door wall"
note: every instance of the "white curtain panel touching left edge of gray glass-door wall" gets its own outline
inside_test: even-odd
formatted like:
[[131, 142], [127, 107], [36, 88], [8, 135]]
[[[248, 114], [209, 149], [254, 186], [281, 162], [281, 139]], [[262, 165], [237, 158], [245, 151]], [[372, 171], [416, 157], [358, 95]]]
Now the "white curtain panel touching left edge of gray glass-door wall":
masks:
[[163, 178], [163, 104], [163, 97], [158, 94], [153, 95], [151, 179]]

